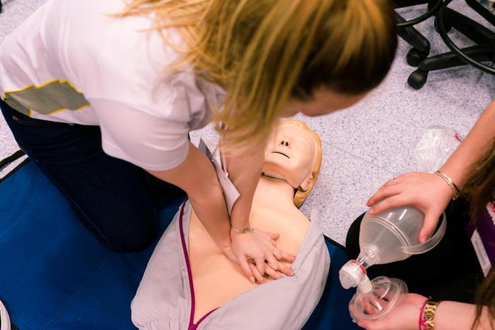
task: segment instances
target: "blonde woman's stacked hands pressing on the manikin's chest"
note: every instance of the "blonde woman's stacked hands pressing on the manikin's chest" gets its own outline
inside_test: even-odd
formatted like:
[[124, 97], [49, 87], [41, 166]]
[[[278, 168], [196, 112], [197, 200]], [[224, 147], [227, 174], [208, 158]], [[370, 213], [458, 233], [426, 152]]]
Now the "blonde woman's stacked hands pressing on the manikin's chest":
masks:
[[[277, 239], [279, 239], [279, 234], [262, 232], [261, 230], [250, 233], [231, 232], [233, 255], [251, 283], [255, 283], [255, 280], [264, 283], [263, 275], [265, 273], [274, 278], [277, 278], [275, 272], [293, 275], [291, 268], [279, 261], [293, 262], [295, 257], [277, 249]], [[252, 268], [250, 263], [254, 263], [255, 267]]]

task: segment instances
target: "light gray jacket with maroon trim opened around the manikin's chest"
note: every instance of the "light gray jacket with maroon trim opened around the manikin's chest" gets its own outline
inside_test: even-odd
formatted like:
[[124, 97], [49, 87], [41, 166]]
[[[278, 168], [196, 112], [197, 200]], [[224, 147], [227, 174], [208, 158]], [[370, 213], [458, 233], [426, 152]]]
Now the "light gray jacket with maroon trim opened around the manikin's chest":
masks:
[[[182, 205], [187, 248], [191, 205]], [[301, 329], [315, 309], [327, 280], [330, 255], [315, 212], [292, 277], [243, 292], [192, 324], [192, 292], [182, 249], [180, 213], [158, 242], [132, 300], [132, 322], [139, 329]]]

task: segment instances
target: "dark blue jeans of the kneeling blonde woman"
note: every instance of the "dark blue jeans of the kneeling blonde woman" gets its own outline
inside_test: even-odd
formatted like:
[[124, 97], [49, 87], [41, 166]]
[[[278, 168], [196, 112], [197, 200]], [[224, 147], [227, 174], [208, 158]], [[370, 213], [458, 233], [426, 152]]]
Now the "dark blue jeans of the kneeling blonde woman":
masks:
[[105, 154], [98, 126], [37, 120], [1, 100], [0, 108], [21, 149], [112, 251], [146, 248], [156, 238], [158, 208], [185, 198], [180, 188]]

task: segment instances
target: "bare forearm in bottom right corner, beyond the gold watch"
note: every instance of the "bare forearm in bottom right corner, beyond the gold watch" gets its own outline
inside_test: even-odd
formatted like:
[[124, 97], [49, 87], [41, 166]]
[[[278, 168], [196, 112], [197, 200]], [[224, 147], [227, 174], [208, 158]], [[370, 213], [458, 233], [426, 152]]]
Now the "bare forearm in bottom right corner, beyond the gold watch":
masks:
[[[471, 330], [476, 315], [476, 306], [463, 302], [441, 302], [436, 309], [436, 330]], [[479, 324], [474, 330], [489, 330], [491, 319], [487, 307], [483, 308]]]

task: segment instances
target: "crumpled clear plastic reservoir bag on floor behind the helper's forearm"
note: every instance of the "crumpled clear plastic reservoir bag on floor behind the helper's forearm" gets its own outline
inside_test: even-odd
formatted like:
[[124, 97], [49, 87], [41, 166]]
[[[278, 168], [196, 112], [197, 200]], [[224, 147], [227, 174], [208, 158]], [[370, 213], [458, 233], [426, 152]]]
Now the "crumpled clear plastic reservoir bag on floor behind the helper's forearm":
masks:
[[459, 132], [449, 127], [428, 127], [414, 149], [419, 171], [434, 172], [440, 169], [461, 142]]

